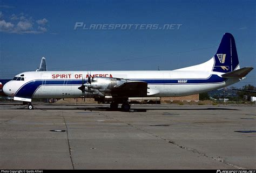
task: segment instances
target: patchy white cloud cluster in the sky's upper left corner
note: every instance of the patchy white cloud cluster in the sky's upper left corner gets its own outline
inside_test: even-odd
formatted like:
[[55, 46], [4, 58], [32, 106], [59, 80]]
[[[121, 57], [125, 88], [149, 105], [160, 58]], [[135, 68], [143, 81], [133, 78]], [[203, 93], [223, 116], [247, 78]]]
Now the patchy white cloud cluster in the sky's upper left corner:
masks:
[[48, 20], [43, 18], [34, 20], [32, 17], [19, 13], [12, 14], [9, 20], [3, 19], [3, 13], [0, 11], [0, 32], [15, 34], [42, 34], [48, 31], [45, 26]]

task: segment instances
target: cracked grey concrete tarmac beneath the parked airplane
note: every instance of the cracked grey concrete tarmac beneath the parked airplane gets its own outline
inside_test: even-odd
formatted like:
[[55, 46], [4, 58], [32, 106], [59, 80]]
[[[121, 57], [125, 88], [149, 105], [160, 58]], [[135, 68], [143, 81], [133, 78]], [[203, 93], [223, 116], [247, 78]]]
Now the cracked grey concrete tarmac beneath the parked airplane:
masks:
[[256, 169], [256, 106], [34, 107], [0, 104], [0, 169]]

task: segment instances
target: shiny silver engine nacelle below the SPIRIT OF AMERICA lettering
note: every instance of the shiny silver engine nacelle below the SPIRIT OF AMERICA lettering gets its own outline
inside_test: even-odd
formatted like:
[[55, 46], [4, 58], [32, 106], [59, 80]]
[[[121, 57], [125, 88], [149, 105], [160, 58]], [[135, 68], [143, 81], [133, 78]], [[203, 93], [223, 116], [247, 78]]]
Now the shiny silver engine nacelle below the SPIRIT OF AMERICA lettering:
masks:
[[96, 89], [102, 92], [110, 92], [114, 86], [125, 83], [125, 79], [110, 78], [110, 77], [93, 77], [91, 84], [92, 89]]

